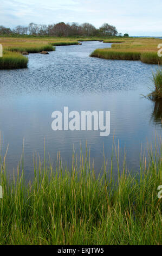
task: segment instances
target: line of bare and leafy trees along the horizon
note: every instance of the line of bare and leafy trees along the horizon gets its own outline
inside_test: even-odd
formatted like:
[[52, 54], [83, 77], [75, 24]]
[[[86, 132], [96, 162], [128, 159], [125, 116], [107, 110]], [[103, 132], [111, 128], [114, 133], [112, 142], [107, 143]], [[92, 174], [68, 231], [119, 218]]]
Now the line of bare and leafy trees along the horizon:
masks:
[[[37, 36], [122, 36], [118, 34], [116, 27], [104, 23], [99, 29], [90, 23], [79, 25], [59, 22], [53, 25], [38, 25], [31, 22], [28, 26], [17, 26], [14, 29], [0, 26], [1, 35], [37, 35]], [[125, 34], [127, 35], [127, 34]]]

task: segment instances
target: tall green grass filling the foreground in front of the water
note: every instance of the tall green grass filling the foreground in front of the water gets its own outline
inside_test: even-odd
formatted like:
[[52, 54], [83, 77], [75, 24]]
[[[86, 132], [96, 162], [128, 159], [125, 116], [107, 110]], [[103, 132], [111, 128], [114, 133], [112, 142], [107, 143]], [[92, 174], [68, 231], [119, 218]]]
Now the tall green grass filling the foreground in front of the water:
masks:
[[[161, 142], [160, 142], [160, 149]], [[22, 163], [18, 178], [9, 181], [1, 159], [3, 199], [0, 199], [1, 245], [161, 245], [162, 159], [158, 147], [145, 158], [140, 174], [129, 174], [124, 161], [119, 171], [96, 176], [89, 159], [73, 155], [72, 168], [34, 159], [34, 180], [25, 184]], [[44, 156], [45, 159], [45, 156]], [[21, 167], [22, 166], [22, 167]], [[22, 172], [22, 174], [20, 174]], [[115, 181], [113, 173], [118, 173]], [[11, 178], [11, 177], [10, 177]]]

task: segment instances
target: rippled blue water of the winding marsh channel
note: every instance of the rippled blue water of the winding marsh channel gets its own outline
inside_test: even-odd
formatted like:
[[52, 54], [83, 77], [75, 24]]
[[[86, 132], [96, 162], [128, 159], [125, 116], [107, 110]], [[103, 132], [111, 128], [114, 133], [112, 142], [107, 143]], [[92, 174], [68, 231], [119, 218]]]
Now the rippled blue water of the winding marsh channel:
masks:
[[[111, 153], [113, 135], [120, 145], [121, 160], [126, 148], [127, 166], [139, 169], [141, 143], [161, 135], [161, 101], [152, 102], [142, 95], [150, 93], [152, 70], [158, 66], [125, 60], [91, 58], [96, 48], [111, 47], [98, 41], [82, 45], [57, 46], [48, 55], [30, 54], [28, 69], [0, 71], [0, 130], [2, 151], [9, 143], [7, 166], [16, 168], [24, 138], [25, 173], [33, 175], [33, 153], [46, 152], [54, 164], [61, 152], [63, 163], [70, 166], [73, 145], [83, 153], [87, 141], [95, 172]], [[99, 131], [53, 131], [51, 113], [63, 111], [111, 111], [111, 135], [100, 137]], [[114, 170], [115, 172], [115, 170]]]

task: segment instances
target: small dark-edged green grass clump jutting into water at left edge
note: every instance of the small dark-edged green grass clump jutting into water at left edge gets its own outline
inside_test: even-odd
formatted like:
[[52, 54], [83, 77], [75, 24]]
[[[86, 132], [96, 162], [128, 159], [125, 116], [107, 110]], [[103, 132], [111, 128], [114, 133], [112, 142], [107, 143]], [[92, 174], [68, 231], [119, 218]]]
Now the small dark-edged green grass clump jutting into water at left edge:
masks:
[[3, 52], [3, 57], [0, 58], [0, 69], [19, 69], [27, 68], [28, 58], [20, 53]]

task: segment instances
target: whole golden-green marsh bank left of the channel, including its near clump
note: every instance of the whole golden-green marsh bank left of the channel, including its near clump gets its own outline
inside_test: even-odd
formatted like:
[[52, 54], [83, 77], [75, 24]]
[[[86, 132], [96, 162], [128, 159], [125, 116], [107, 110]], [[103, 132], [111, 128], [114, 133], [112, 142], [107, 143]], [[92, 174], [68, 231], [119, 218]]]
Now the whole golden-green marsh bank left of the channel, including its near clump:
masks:
[[[18, 37], [18, 38], [1, 38], [1, 44], [3, 45], [3, 57], [0, 59], [0, 69], [11, 68], [27, 68], [27, 59], [20, 57], [22, 52], [38, 53], [42, 51], [55, 51], [54, 46], [59, 45], [75, 45], [78, 44], [77, 40], [73, 38], [50, 38], [50, 37]], [[5, 54], [7, 52], [8, 54]], [[10, 53], [9, 53], [10, 52]], [[26, 64], [25, 64], [26, 60]]]

